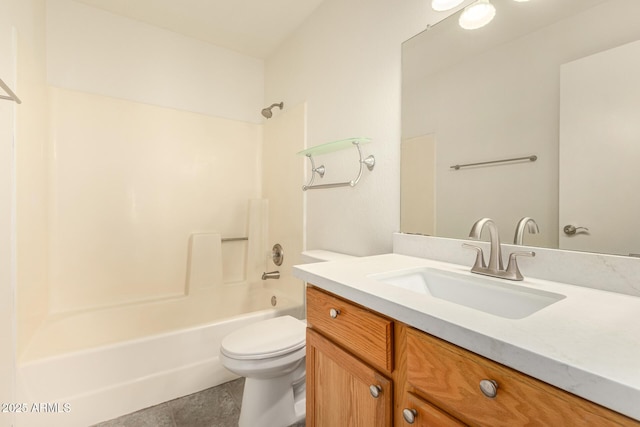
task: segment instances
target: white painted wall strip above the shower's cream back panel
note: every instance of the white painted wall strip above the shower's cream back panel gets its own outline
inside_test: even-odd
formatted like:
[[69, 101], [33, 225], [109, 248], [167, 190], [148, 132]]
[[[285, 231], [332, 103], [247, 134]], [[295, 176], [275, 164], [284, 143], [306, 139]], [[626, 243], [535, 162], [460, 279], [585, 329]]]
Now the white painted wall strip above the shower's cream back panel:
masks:
[[51, 85], [260, 123], [263, 62], [71, 0], [47, 1]]

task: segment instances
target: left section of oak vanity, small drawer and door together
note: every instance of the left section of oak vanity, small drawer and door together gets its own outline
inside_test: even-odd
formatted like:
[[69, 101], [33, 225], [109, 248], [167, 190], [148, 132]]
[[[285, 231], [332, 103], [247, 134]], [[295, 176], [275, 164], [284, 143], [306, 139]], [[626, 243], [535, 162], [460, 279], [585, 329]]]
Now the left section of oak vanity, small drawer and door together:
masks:
[[393, 425], [393, 322], [307, 288], [307, 427]]

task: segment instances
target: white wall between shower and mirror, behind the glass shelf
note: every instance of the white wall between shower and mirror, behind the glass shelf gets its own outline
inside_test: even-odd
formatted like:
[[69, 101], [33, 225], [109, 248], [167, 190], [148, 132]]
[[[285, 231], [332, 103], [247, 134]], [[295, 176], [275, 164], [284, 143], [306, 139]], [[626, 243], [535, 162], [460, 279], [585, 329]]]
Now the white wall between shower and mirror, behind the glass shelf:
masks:
[[[326, 0], [266, 62], [267, 100], [307, 102], [308, 146], [373, 139], [363, 152], [375, 155], [376, 166], [365, 170], [357, 187], [308, 192], [308, 249], [391, 250], [391, 233], [400, 224], [400, 46], [442, 18], [429, 4]], [[358, 168], [355, 152], [318, 161], [327, 168], [323, 182], [352, 179]]]

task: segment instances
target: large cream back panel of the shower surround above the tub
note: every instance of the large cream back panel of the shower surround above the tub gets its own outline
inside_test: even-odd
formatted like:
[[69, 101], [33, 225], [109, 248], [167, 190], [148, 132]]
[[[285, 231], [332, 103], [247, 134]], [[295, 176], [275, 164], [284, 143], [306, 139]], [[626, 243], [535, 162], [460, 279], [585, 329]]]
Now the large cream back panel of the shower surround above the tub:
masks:
[[52, 313], [183, 295], [192, 233], [246, 235], [260, 125], [59, 88], [50, 99]]

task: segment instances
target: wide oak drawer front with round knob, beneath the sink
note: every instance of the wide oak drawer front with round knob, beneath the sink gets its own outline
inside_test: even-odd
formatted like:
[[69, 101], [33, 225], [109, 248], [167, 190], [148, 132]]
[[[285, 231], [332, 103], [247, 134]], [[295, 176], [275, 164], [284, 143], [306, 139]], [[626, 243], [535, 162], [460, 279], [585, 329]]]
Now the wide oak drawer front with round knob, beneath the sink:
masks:
[[[620, 414], [413, 329], [407, 332], [407, 380], [416, 393], [469, 425], [636, 425]], [[494, 398], [481, 391], [483, 380], [495, 381]]]

